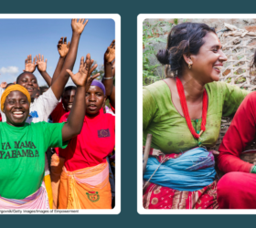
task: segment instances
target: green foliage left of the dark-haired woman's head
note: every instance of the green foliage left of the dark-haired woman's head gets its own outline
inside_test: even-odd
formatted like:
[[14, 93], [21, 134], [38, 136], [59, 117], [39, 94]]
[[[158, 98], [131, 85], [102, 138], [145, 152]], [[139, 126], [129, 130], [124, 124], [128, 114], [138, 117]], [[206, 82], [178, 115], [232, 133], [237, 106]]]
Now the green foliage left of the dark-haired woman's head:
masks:
[[[163, 27], [165, 26], [165, 30]], [[166, 21], [159, 21], [155, 23], [155, 25], [150, 25], [148, 22], [144, 23], [144, 36], [143, 36], [143, 46], [144, 46], [144, 54], [143, 54], [143, 80], [144, 85], [148, 85], [150, 83], [159, 80], [161, 77], [155, 76], [156, 67], [161, 66], [160, 64], [151, 65], [149, 58], [154, 57], [156, 55], [156, 50], [152, 46], [154, 43], [166, 43], [166, 40], [161, 38], [165, 34], [165, 31], [169, 31], [173, 26], [172, 23]]]

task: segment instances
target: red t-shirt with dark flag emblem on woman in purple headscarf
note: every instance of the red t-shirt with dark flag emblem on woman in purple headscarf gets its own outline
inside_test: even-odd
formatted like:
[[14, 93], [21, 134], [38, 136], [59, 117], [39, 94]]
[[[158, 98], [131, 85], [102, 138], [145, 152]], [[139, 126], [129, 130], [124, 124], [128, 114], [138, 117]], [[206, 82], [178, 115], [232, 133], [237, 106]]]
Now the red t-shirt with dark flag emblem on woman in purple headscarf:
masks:
[[[67, 121], [68, 117], [69, 112], [60, 121]], [[80, 134], [69, 140], [66, 149], [59, 149], [59, 156], [65, 158], [68, 171], [77, 171], [105, 162], [114, 145], [115, 117], [101, 109], [96, 117], [84, 117]]]

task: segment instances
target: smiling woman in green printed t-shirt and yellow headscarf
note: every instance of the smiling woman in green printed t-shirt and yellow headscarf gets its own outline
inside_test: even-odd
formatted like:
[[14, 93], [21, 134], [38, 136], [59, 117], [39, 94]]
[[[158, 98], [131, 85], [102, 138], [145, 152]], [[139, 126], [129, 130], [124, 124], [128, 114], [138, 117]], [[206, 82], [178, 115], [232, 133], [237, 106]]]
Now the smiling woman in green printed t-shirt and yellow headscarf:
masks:
[[[20, 85], [5, 89], [1, 109], [6, 122], [1, 122], [0, 141], [0, 208], [48, 209], [43, 182], [45, 151], [49, 147], [65, 148], [68, 140], [80, 133], [85, 115], [85, 95], [91, 75], [86, 64], [80, 75], [72, 75], [77, 85], [76, 98], [69, 119], [64, 123], [26, 122], [31, 102], [27, 88]], [[94, 77], [95, 78], [95, 77]]]

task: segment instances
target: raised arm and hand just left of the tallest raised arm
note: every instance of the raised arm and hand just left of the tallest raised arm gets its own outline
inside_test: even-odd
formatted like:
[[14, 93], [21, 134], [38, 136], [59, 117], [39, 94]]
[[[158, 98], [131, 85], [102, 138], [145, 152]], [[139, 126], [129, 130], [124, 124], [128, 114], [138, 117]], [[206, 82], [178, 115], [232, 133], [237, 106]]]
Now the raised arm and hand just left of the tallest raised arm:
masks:
[[67, 45], [67, 37], [64, 38], [64, 43], [63, 43], [63, 37], [59, 39], [59, 43], [57, 46], [59, 51], [59, 61], [58, 61], [57, 67], [55, 68], [54, 74], [52, 76], [51, 84], [53, 84], [53, 82], [58, 78], [60, 74], [60, 71], [65, 61], [65, 57], [69, 52], [69, 46], [70, 46], [70, 42]]

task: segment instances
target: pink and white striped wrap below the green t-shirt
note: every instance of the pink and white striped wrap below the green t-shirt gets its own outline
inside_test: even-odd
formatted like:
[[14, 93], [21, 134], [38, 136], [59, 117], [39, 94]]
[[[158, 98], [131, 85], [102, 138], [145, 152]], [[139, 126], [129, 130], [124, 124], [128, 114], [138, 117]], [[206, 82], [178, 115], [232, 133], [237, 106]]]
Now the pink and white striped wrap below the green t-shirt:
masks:
[[45, 183], [42, 182], [37, 192], [23, 200], [6, 199], [0, 196], [0, 209], [49, 209]]

